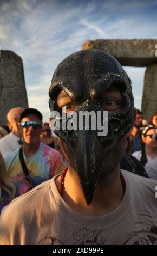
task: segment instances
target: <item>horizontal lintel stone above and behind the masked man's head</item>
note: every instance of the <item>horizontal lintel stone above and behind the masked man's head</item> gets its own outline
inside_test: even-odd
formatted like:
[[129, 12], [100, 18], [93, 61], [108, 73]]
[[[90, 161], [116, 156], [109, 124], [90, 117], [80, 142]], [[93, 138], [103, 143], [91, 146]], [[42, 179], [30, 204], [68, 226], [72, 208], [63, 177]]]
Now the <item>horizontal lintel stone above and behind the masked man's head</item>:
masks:
[[157, 62], [157, 39], [96, 39], [87, 40], [82, 50], [99, 49], [114, 56], [123, 66], [147, 66]]

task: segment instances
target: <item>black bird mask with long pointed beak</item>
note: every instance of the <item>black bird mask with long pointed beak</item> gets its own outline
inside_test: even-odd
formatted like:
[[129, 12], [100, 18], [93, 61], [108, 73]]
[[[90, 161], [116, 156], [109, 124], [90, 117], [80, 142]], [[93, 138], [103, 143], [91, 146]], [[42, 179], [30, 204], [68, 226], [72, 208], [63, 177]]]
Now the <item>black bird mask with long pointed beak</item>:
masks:
[[[101, 99], [111, 86], [119, 89], [122, 107], [108, 113], [108, 133], [97, 136], [97, 130], [54, 130], [62, 140], [62, 149], [67, 162], [78, 173], [84, 198], [91, 203], [96, 184], [102, 176], [113, 170], [112, 159], [117, 143], [134, 123], [134, 103], [130, 80], [117, 60], [100, 50], [78, 51], [64, 59], [56, 68], [49, 89], [51, 111], [60, 111], [57, 95], [64, 90], [79, 111], [103, 111]], [[102, 120], [103, 122], [103, 120]], [[66, 153], [66, 154], [65, 154]]]

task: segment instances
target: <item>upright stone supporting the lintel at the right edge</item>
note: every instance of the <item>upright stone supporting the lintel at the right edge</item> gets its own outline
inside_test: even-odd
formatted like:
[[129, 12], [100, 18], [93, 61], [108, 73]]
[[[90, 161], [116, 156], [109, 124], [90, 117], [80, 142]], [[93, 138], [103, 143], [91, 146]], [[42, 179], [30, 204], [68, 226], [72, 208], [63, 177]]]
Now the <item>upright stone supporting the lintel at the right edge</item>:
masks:
[[146, 120], [157, 112], [157, 63], [147, 66], [145, 71], [142, 111]]

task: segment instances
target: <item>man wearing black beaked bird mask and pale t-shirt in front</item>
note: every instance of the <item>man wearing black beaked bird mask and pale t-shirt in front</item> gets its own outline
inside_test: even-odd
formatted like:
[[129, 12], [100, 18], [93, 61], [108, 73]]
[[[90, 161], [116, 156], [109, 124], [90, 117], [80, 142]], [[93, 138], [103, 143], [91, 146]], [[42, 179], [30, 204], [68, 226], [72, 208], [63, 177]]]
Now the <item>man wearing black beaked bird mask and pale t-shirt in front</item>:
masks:
[[[120, 170], [136, 115], [120, 63], [96, 49], [75, 52], [57, 66], [49, 97], [68, 168], [2, 211], [0, 244], [156, 245], [156, 182]], [[92, 118], [82, 125], [82, 111], [93, 111], [97, 127]], [[70, 112], [78, 120], [75, 129], [65, 118]], [[106, 122], [102, 135], [99, 124]], [[14, 222], [8, 223], [15, 209]]]

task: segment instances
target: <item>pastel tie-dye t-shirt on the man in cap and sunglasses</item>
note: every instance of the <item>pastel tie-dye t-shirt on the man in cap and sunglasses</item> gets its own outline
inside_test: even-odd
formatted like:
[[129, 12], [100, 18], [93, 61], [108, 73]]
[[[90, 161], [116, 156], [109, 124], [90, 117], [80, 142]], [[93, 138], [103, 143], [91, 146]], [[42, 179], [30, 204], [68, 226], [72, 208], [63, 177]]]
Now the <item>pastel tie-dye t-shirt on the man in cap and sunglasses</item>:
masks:
[[[9, 175], [16, 177], [24, 175], [18, 153], [19, 149], [12, 152], [4, 159]], [[30, 176], [50, 179], [55, 174], [61, 173], [65, 168], [60, 152], [43, 143], [40, 143], [39, 149], [31, 157], [26, 157], [23, 150], [23, 157]]]

